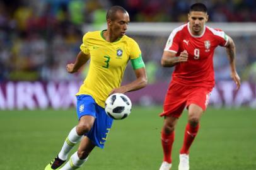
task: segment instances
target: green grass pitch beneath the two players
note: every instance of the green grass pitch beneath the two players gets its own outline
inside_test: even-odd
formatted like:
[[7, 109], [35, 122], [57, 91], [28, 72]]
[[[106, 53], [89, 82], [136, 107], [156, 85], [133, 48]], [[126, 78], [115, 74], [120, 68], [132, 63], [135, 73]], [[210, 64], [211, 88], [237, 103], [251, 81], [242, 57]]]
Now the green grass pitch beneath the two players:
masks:
[[[161, 107], [132, 108], [128, 118], [113, 123], [105, 149], [93, 150], [81, 169], [159, 169], [163, 123], [158, 116], [160, 112]], [[172, 170], [178, 169], [178, 151], [186, 122], [187, 111], [184, 111], [176, 129]], [[0, 169], [44, 169], [76, 123], [74, 108], [0, 111]], [[255, 170], [256, 110], [208, 108], [190, 149], [190, 169]]]

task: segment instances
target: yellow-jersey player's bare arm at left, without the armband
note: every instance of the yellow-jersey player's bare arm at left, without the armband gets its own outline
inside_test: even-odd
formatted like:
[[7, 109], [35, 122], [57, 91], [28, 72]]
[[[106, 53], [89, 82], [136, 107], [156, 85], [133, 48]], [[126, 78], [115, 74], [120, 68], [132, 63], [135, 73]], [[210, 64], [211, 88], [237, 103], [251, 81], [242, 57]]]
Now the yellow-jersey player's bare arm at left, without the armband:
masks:
[[84, 54], [82, 51], [79, 52], [76, 57], [76, 62], [67, 64], [66, 69], [69, 73], [78, 72], [78, 70], [86, 64], [86, 62], [90, 59], [90, 55]]

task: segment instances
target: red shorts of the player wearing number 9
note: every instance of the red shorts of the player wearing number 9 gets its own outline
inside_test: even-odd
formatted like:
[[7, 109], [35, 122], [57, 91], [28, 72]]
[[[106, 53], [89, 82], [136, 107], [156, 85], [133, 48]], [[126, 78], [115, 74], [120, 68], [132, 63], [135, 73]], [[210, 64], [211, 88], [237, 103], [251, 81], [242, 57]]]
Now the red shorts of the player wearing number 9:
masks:
[[184, 108], [190, 104], [198, 105], [206, 110], [212, 88], [199, 86], [183, 86], [172, 82], [165, 96], [163, 113], [160, 116], [172, 115], [179, 118]]

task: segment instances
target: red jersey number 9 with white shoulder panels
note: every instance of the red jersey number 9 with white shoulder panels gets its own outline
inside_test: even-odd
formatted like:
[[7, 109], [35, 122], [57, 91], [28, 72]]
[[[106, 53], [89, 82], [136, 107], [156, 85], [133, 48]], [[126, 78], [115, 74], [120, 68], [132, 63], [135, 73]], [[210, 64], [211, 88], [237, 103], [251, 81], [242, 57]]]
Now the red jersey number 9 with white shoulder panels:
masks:
[[187, 50], [189, 59], [175, 65], [172, 81], [185, 86], [206, 86], [212, 88], [214, 82], [213, 55], [214, 49], [225, 46], [228, 36], [224, 31], [208, 26], [204, 27], [202, 35], [192, 35], [189, 23], [175, 28], [165, 46], [165, 51], [180, 52]]

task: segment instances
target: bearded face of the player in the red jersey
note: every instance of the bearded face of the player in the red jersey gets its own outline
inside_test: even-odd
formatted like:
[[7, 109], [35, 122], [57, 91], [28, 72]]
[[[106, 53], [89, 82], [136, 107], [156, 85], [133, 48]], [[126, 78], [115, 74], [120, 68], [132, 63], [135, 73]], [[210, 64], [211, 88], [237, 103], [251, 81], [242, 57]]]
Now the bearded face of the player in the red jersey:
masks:
[[190, 26], [190, 31], [192, 31], [192, 34], [201, 35], [207, 20], [208, 20], [207, 13], [199, 12], [199, 11], [190, 12], [189, 26]]

